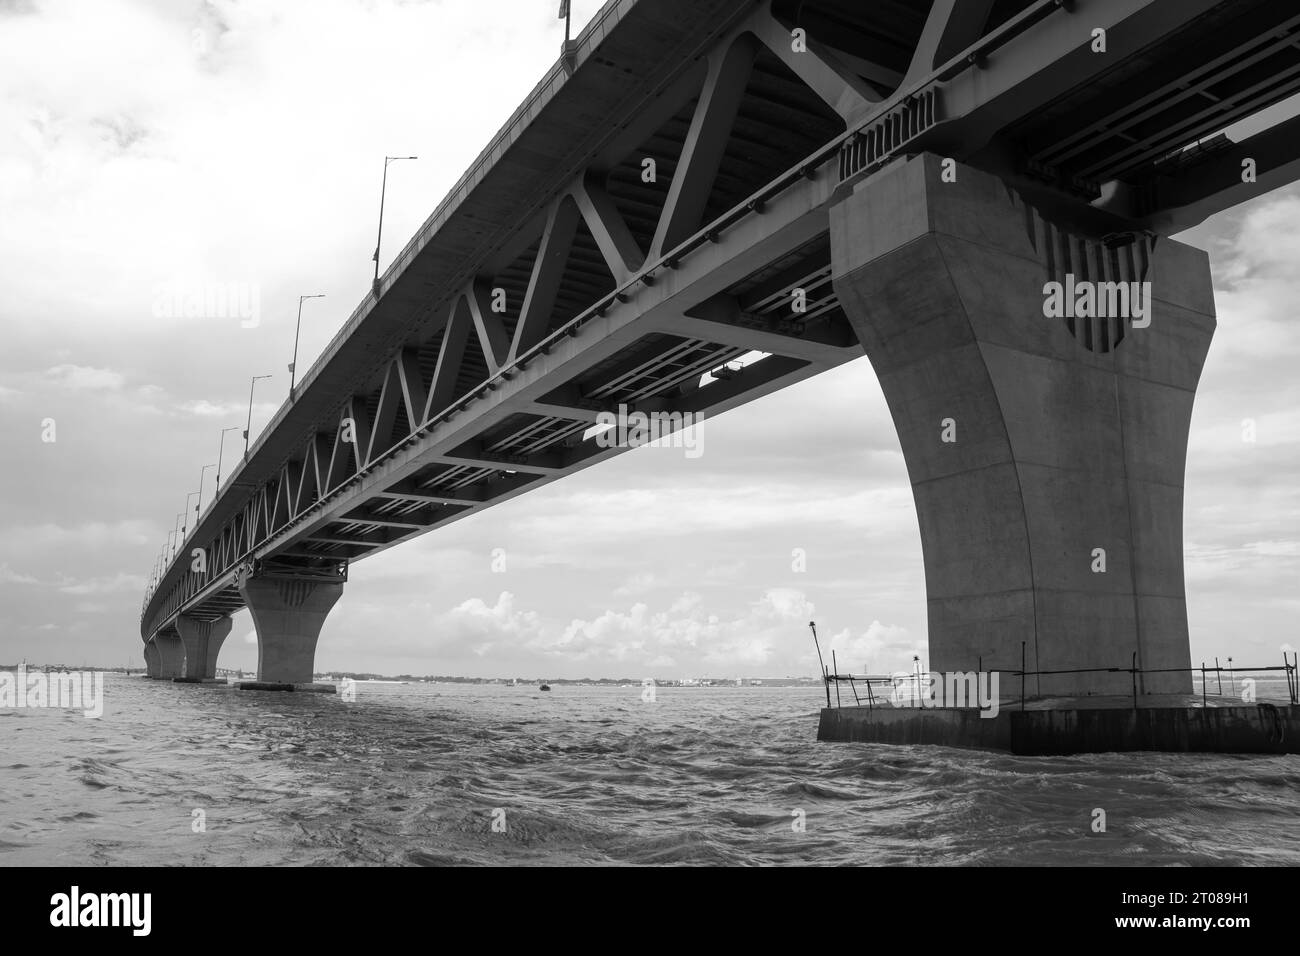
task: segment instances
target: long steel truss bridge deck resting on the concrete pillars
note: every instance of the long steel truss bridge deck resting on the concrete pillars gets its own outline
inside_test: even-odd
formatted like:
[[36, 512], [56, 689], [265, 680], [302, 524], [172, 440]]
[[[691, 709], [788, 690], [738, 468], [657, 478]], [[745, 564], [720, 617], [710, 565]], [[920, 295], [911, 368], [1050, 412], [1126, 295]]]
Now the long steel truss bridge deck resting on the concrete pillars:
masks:
[[[1101, 229], [1169, 225], [1244, 198], [1182, 147], [1300, 88], [1283, 0], [970, 8], [606, 4], [202, 515], [144, 639], [242, 606], [248, 562], [338, 574], [619, 454], [584, 438], [601, 412], [714, 415], [861, 355], [827, 209], [894, 159], [956, 156]], [[1278, 157], [1257, 191], [1297, 172], [1279, 143], [1251, 144]]]

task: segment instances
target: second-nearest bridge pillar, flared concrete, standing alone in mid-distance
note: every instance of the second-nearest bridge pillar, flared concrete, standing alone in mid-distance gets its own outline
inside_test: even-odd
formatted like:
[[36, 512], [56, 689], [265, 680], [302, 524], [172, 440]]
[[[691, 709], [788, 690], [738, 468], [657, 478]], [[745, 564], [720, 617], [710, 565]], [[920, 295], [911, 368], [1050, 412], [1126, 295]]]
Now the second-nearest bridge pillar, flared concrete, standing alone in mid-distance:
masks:
[[309, 684], [316, 640], [343, 596], [341, 579], [290, 574], [240, 575], [239, 593], [257, 630], [257, 682]]

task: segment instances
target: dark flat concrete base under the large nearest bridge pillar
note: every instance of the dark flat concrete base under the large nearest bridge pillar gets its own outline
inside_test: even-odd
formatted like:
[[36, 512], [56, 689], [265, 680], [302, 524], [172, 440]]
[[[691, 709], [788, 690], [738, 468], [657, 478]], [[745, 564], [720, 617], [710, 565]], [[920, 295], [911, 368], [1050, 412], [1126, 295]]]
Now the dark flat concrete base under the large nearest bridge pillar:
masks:
[[957, 708], [824, 708], [818, 740], [928, 744], [1024, 756], [1071, 753], [1300, 753], [1300, 706], [1202, 706], [1184, 695], [1046, 698], [1004, 704], [996, 717]]

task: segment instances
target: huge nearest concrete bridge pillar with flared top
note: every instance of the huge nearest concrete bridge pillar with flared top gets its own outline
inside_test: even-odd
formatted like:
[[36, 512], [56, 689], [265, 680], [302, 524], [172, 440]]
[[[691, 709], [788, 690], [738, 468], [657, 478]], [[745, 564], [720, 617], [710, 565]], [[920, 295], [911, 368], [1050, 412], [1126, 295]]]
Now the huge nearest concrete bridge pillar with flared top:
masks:
[[[1208, 256], [1165, 238], [1108, 246], [993, 176], [946, 173], [923, 153], [831, 209], [835, 289], [916, 503], [931, 669], [1019, 670], [1022, 643], [1028, 671], [1127, 669], [1135, 653], [1144, 670], [1190, 669], [1183, 472], [1216, 328]], [[1149, 311], [1049, 317], [1048, 282], [1067, 276], [1149, 281]], [[1192, 689], [1190, 671], [1139, 680]], [[1132, 676], [1026, 689], [1128, 695]]]

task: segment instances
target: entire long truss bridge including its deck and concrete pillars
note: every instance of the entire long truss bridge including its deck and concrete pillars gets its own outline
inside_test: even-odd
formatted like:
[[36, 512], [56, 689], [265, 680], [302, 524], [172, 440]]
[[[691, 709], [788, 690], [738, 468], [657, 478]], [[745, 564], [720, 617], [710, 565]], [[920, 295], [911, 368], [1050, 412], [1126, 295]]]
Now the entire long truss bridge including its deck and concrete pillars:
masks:
[[212, 676], [247, 607], [259, 680], [309, 682], [352, 562], [625, 451], [598, 416], [716, 415], [866, 352], [932, 666], [1136, 654], [1190, 692], [1150, 671], [1191, 666], [1216, 313], [1167, 237], [1296, 178], [1300, 121], [1223, 130], [1297, 91], [1292, 0], [611, 0], [155, 575], [150, 675]]

